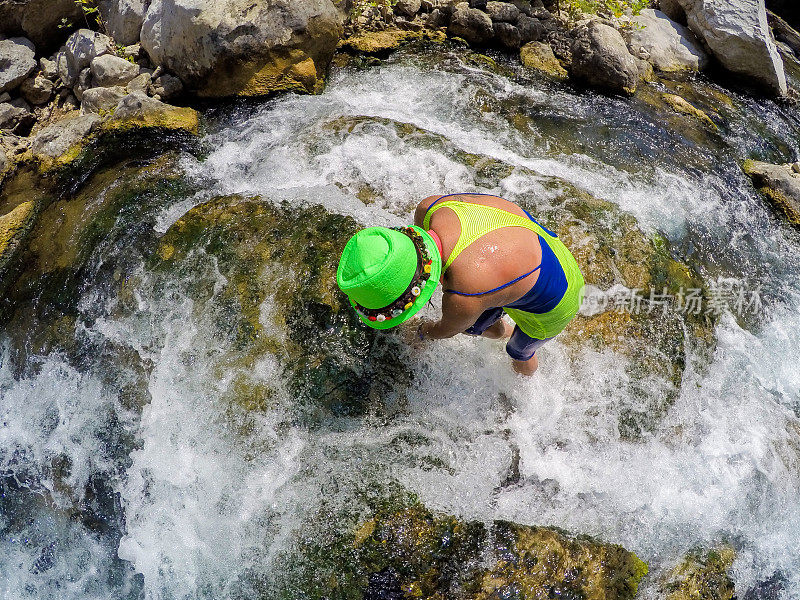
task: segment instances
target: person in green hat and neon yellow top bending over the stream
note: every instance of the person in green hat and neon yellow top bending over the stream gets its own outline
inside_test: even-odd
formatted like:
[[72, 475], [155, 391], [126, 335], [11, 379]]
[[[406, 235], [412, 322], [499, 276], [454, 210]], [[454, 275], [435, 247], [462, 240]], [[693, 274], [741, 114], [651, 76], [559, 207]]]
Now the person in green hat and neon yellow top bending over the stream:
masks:
[[487, 194], [431, 196], [417, 206], [413, 227], [358, 232], [336, 279], [376, 329], [413, 317], [441, 280], [442, 317], [421, 323], [420, 339], [508, 337], [506, 351], [523, 375], [536, 371], [536, 351], [578, 312], [584, 285], [558, 236], [513, 202]]

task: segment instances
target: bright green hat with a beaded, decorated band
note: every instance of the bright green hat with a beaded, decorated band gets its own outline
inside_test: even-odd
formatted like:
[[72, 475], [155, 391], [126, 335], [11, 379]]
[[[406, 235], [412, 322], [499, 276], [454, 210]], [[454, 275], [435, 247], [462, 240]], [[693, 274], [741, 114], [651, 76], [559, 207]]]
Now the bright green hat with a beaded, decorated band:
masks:
[[364, 323], [389, 329], [425, 306], [441, 273], [439, 249], [424, 229], [368, 227], [344, 247], [336, 283]]

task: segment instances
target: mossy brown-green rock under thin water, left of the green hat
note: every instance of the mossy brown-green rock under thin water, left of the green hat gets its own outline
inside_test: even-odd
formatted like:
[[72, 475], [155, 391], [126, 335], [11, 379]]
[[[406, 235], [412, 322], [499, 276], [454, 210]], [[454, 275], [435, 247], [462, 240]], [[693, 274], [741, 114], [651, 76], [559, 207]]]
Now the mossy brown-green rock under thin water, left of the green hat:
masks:
[[[357, 229], [352, 218], [321, 206], [221, 197], [179, 219], [161, 239], [152, 266], [185, 274], [198, 261], [216, 261], [226, 281], [222, 289], [191, 294], [195, 310], [217, 317], [215, 335], [232, 349], [220, 369], [246, 372], [274, 356], [310, 419], [380, 412], [402, 400], [396, 396], [411, 380], [410, 350], [394, 333], [364, 327], [336, 287], [339, 256]], [[259, 382], [249, 386], [245, 377], [231, 399], [268, 407], [272, 392]]]

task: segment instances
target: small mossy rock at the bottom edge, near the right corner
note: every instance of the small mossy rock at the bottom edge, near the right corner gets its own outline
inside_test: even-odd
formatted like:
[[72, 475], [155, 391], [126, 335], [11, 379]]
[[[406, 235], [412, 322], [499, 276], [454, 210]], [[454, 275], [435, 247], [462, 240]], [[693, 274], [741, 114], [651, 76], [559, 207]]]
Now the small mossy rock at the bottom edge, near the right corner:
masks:
[[729, 545], [687, 554], [661, 583], [664, 600], [734, 600], [730, 571], [736, 551]]

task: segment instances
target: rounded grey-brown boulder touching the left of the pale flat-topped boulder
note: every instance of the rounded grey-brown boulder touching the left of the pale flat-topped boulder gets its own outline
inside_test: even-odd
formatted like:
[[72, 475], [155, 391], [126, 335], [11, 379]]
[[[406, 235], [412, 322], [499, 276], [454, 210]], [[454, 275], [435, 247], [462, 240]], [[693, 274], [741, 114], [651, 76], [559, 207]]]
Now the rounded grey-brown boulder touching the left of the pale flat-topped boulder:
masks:
[[632, 94], [640, 79], [639, 65], [613, 27], [590, 22], [572, 45], [572, 76], [593, 87]]

